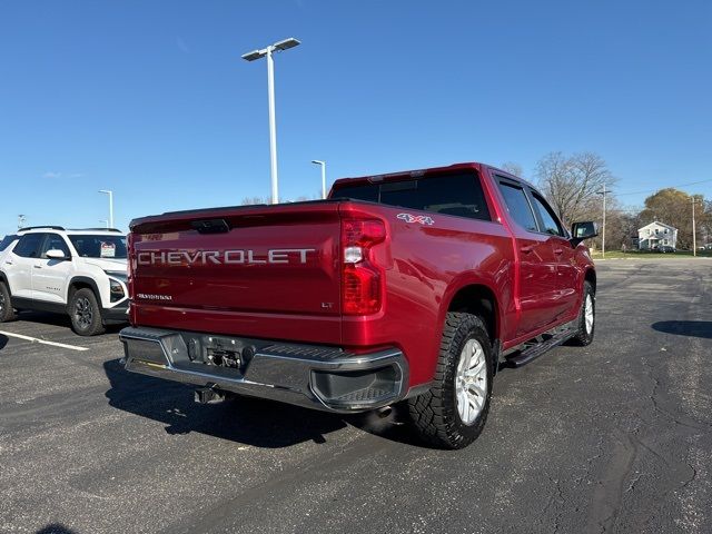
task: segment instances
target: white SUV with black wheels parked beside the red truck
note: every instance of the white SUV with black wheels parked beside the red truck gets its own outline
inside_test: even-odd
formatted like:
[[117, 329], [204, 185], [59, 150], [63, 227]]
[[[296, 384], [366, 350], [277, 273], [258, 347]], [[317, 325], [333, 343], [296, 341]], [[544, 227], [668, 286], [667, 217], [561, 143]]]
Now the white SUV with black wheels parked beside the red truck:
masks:
[[128, 320], [126, 236], [119, 230], [18, 230], [0, 253], [0, 323], [16, 309], [69, 315], [80, 336]]

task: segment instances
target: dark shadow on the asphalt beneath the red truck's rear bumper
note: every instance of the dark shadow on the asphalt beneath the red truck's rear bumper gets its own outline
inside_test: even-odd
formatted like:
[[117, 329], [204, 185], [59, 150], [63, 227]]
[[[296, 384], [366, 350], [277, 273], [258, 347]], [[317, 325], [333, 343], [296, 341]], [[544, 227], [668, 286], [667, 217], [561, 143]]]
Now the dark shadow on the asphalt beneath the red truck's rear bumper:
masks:
[[326, 443], [326, 435], [354, 426], [388, 441], [415, 444], [416, 438], [397, 422], [375, 412], [337, 415], [260, 398], [236, 397], [219, 404], [194, 402], [194, 388], [184, 384], [128, 373], [111, 359], [103, 364], [111, 387], [109, 405], [158, 421], [168, 434], [198, 432], [261, 448], [289, 447], [303, 442]]

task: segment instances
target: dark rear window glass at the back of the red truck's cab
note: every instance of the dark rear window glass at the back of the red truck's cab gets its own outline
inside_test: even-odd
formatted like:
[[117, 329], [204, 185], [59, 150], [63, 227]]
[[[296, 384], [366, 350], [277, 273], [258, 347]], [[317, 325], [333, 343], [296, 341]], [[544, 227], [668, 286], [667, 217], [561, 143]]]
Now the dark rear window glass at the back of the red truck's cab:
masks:
[[479, 177], [475, 172], [344, 186], [339, 187], [333, 197], [492, 220]]

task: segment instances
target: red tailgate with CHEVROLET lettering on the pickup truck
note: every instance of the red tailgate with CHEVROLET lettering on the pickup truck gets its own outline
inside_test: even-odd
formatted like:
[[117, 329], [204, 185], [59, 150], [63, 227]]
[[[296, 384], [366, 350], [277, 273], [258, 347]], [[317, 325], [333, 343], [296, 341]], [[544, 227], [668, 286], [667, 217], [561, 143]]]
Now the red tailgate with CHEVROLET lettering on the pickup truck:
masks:
[[338, 343], [339, 233], [336, 201], [136, 220], [132, 319], [291, 339], [315, 337], [316, 328]]

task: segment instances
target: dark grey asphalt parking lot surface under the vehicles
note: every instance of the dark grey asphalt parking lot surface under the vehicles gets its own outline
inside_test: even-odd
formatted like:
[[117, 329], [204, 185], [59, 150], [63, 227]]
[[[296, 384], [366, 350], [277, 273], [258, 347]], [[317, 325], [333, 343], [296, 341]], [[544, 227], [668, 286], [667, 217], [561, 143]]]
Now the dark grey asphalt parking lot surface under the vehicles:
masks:
[[[0, 325], [0, 532], [712, 532], [712, 260], [599, 263], [596, 339], [495, 380], [483, 435], [202, 406], [95, 338]], [[79, 350], [73, 347], [88, 348]]]

